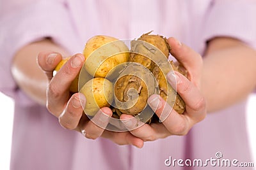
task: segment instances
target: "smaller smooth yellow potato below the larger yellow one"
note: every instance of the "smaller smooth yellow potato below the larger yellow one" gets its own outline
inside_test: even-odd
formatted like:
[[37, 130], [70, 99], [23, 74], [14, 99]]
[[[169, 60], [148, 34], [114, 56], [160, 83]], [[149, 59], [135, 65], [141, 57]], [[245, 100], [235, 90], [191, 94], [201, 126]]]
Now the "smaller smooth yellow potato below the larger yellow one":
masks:
[[113, 84], [105, 78], [93, 78], [86, 82], [80, 92], [86, 97], [84, 111], [93, 116], [100, 108], [113, 102]]

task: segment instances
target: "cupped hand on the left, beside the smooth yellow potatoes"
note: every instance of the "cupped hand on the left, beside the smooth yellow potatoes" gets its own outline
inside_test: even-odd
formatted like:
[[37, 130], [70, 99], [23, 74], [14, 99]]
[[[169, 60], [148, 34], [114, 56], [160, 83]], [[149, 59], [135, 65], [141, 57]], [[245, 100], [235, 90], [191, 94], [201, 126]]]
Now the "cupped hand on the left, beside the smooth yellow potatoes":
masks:
[[142, 147], [143, 141], [132, 136], [130, 132], [110, 132], [105, 130], [109, 123], [109, 117], [112, 116], [112, 111], [109, 108], [101, 108], [92, 120], [83, 113], [86, 98], [81, 93], [71, 94], [69, 88], [83, 66], [84, 56], [81, 53], [73, 55], [53, 77], [54, 68], [61, 59], [60, 53], [41, 52], [38, 55], [38, 65], [49, 80], [47, 109], [59, 119], [61, 126], [82, 132], [89, 139], [103, 136], [118, 145], [131, 144]]

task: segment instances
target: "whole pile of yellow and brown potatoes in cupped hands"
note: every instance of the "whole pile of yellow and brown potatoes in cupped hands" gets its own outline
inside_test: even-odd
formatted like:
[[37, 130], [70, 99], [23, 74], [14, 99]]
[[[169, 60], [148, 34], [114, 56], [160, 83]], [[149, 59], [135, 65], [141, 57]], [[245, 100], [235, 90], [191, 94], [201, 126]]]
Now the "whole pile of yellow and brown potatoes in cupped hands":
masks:
[[[166, 74], [172, 69], [185, 76], [186, 73], [168, 61], [169, 53], [166, 38], [150, 32], [132, 40], [131, 49], [116, 38], [94, 36], [85, 45], [85, 63], [70, 92], [84, 94], [84, 112], [89, 116], [106, 106], [112, 108], [115, 118], [122, 113], [136, 116], [146, 108], [152, 94], [159, 94], [178, 113], [183, 113], [184, 101], [167, 83]], [[56, 71], [68, 59], [63, 59]], [[84, 77], [86, 81], [82, 80]]]

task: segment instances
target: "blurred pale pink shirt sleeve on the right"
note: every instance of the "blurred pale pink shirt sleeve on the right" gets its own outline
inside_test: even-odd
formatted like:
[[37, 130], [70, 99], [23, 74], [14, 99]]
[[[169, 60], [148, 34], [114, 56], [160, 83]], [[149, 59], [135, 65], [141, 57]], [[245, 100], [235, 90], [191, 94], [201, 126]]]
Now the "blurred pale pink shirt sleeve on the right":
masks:
[[205, 15], [203, 39], [228, 36], [256, 49], [256, 1], [214, 0]]

